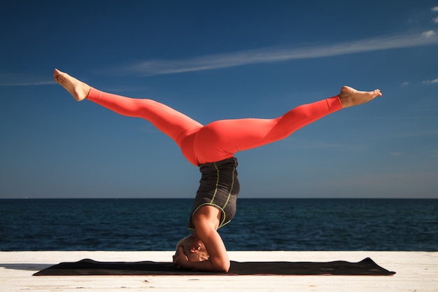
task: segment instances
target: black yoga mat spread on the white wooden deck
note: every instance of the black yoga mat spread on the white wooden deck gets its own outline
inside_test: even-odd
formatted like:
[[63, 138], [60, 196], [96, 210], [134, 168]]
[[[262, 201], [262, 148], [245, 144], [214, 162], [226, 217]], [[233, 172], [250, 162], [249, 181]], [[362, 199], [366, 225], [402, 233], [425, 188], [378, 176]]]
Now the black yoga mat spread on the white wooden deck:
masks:
[[344, 275], [391, 275], [380, 267], [371, 258], [365, 258], [358, 263], [337, 260], [327, 263], [318, 262], [231, 262], [229, 272], [202, 272], [176, 269], [173, 263], [168, 262], [97, 262], [84, 259], [75, 263], [59, 263], [48, 267], [34, 276], [77, 276], [77, 275], [202, 275], [202, 274], [281, 274], [281, 275], [309, 275], [309, 274], [344, 274]]

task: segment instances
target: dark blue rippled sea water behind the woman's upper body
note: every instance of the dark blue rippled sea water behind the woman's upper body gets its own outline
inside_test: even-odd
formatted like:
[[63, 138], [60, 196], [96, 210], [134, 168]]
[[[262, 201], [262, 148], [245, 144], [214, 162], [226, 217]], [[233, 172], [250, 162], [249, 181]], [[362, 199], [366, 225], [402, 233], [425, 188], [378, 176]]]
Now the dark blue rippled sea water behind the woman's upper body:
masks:
[[[239, 199], [228, 250], [438, 251], [438, 200]], [[191, 199], [0, 200], [0, 250], [174, 250]]]

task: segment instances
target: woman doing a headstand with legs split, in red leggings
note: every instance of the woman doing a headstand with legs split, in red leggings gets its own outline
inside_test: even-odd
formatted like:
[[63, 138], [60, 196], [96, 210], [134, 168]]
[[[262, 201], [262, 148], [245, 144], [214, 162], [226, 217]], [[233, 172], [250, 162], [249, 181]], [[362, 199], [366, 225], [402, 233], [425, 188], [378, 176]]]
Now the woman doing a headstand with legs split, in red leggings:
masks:
[[273, 119], [218, 120], [202, 125], [151, 99], [132, 99], [101, 92], [57, 69], [55, 81], [78, 102], [88, 99], [123, 116], [144, 118], [169, 135], [185, 158], [199, 167], [202, 179], [190, 214], [192, 235], [176, 246], [174, 265], [194, 270], [227, 272], [229, 258], [218, 228], [236, 211], [239, 180], [234, 153], [288, 137], [334, 111], [380, 97], [380, 90], [362, 92], [344, 86], [339, 95], [298, 106]]

